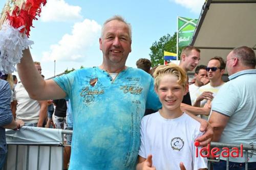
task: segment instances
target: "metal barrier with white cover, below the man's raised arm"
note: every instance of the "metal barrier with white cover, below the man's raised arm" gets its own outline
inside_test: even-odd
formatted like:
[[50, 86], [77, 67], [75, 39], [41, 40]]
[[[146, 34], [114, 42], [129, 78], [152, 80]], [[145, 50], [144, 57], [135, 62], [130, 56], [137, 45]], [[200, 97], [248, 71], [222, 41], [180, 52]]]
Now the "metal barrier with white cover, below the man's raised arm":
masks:
[[[61, 136], [58, 137], [59, 142], [57, 140], [56, 142], [53, 142], [53, 144], [51, 144], [51, 141], [47, 141], [48, 143], [46, 141], [43, 141], [43, 144], [40, 144], [38, 143], [40, 139], [38, 139], [38, 141], [33, 141], [36, 138], [28, 141], [27, 139], [24, 139], [24, 135], [26, 135], [26, 133], [28, 133], [29, 131], [29, 133], [31, 133], [32, 135], [37, 135], [38, 131], [42, 131], [42, 134], [49, 135], [49, 133], [46, 133], [47, 130], [49, 130], [49, 133], [54, 132], [58, 134], [59, 132], [61, 132]], [[63, 169], [63, 149], [65, 146], [63, 144], [64, 134], [72, 134], [72, 131], [57, 129], [50, 130], [47, 128], [35, 129], [34, 127], [22, 128], [20, 132], [8, 130], [6, 135], [8, 153], [4, 170]], [[50, 138], [51, 137], [52, 136], [50, 136]], [[29, 144], [26, 144], [27, 142]], [[33, 142], [35, 142], [36, 144], [33, 144]]]

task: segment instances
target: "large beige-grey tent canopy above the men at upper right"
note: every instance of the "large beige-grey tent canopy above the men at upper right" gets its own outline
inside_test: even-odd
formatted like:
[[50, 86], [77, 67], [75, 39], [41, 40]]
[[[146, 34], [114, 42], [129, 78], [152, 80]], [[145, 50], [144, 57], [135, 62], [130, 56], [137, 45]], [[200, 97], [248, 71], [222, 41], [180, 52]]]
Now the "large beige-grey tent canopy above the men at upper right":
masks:
[[256, 52], [256, 1], [208, 0], [190, 45], [201, 50], [204, 65], [215, 56], [226, 59], [234, 47], [246, 45]]

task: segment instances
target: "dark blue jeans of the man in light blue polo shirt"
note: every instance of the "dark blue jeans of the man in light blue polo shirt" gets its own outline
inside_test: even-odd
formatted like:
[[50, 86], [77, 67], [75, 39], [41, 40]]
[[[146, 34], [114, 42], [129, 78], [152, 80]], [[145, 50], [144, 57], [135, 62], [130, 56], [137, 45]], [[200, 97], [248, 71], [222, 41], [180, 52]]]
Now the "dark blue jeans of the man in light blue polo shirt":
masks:
[[[214, 165], [214, 170], [226, 170], [226, 161], [220, 160], [220, 162], [212, 163]], [[244, 170], [245, 163], [230, 162], [229, 170]], [[256, 162], [248, 162], [248, 170], [256, 170]]]

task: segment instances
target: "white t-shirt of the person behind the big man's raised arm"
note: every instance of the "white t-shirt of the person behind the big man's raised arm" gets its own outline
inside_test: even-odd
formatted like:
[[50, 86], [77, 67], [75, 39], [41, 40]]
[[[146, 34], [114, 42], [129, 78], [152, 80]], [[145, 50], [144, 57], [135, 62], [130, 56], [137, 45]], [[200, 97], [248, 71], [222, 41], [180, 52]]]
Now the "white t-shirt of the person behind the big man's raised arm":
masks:
[[17, 101], [16, 119], [21, 119], [24, 123], [38, 122], [40, 104], [29, 97], [22, 83], [15, 86], [13, 100]]

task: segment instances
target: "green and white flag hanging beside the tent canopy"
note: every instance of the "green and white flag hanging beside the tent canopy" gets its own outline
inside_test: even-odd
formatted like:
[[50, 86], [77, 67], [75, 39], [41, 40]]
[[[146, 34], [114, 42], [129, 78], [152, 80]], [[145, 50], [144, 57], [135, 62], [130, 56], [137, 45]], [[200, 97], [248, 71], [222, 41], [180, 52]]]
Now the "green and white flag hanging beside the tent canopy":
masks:
[[179, 47], [189, 45], [196, 29], [197, 21], [198, 19], [178, 17], [177, 44]]

